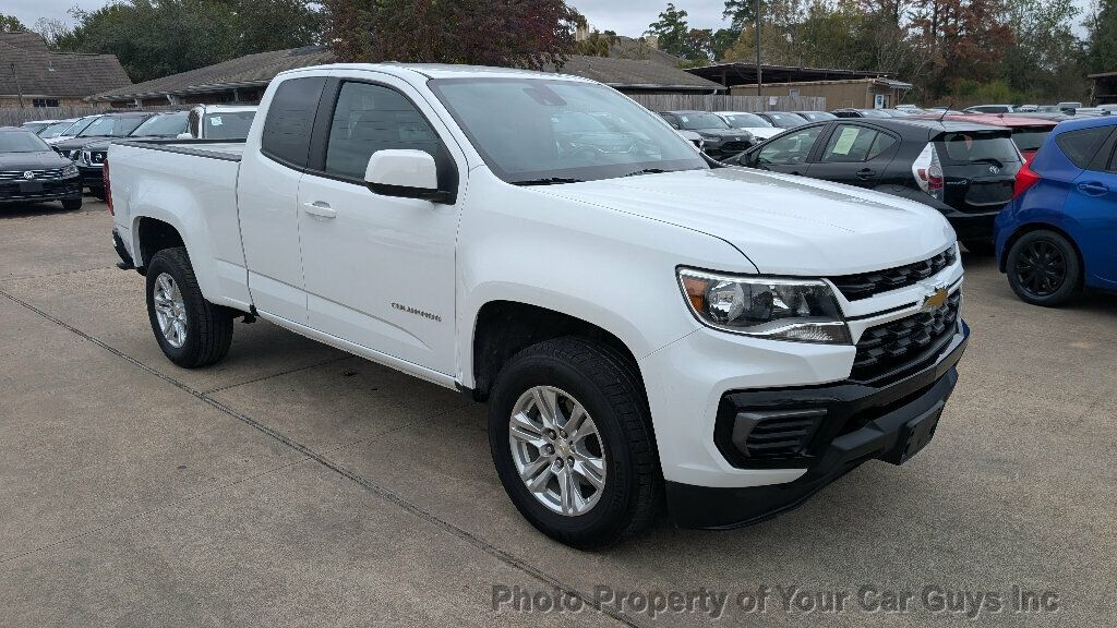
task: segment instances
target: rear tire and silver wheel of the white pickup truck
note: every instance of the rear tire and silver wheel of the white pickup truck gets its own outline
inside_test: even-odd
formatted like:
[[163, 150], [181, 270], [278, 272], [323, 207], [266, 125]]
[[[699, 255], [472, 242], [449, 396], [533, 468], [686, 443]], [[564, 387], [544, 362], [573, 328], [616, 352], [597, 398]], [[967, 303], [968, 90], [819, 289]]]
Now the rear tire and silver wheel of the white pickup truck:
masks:
[[156, 253], [147, 265], [147, 316], [159, 346], [180, 367], [206, 367], [229, 353], [232, 314], [206, 301], [182, 247]]

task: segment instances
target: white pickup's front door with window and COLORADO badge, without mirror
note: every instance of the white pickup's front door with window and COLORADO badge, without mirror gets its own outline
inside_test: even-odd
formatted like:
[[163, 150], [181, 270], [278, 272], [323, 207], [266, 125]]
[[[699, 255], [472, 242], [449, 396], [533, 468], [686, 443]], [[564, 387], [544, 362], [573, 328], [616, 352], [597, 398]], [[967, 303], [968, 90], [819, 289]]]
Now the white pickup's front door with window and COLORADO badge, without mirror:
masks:
[[376, 151], [420, 150], [457, 190], [465, 156], [410, 85], [366, 76], [327, 85], [298, 190], [309, 326], [452, 374], [459, 206], [375, 194], [364, 174]]

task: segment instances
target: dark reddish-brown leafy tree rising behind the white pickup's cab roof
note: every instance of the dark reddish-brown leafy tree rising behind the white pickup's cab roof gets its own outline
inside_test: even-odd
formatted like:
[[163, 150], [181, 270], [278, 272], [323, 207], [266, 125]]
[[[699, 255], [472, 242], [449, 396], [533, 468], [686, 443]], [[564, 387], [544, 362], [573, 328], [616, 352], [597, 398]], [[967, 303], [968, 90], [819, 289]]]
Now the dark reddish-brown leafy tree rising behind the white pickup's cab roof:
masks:
[[585, 23], [564, 0], [325, 0], [338, 58], [562, 65]]

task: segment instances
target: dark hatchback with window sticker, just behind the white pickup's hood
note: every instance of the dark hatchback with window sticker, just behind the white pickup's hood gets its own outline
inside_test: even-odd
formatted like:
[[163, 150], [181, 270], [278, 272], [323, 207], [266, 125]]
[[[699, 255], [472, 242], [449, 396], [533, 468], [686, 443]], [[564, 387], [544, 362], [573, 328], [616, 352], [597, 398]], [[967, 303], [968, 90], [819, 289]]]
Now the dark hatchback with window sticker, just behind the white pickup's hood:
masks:
[[[733, 163], [733, 161], [731, 161]], [[1010, 129], [918, 117], [839, 118], [785, 131], [735, 160], [904, 197], [939, 210], [972, 251], [989, 251], [993, 219], [1023, 165]]]

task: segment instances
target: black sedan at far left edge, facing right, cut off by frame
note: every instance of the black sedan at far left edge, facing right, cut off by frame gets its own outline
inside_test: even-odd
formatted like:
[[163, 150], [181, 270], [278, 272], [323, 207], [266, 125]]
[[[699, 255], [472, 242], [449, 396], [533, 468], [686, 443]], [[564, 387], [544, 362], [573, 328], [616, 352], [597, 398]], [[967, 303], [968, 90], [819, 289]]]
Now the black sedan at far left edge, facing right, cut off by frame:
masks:
[[46, 201], [82, 207], [77, 166], [35, 133], [0, 126], [0, 204]]

